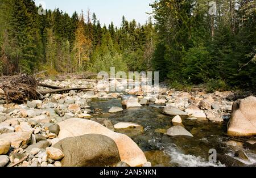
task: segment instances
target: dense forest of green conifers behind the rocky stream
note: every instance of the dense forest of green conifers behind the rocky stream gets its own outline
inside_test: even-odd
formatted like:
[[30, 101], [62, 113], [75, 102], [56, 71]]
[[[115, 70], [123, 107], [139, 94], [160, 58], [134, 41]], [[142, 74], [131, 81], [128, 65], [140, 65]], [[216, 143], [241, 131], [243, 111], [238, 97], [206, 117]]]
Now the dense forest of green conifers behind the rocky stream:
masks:
[[172, 87], [256, 86], [256, 1], [157, 0], [144, 24], [0, 1], [0, 73], [159, 71]]

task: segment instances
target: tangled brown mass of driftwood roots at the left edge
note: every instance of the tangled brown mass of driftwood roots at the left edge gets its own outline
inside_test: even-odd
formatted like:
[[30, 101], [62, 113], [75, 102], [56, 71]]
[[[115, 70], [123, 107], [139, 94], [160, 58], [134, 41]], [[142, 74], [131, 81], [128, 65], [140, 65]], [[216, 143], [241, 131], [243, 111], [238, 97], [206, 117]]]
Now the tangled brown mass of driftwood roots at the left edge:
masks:
[[36, 79], [27, 74], [5, 79], [0, 88], [5, 91], [6, 99], [11, 103], [23, 103], [30, 99], [36, 99], [38, 94]]

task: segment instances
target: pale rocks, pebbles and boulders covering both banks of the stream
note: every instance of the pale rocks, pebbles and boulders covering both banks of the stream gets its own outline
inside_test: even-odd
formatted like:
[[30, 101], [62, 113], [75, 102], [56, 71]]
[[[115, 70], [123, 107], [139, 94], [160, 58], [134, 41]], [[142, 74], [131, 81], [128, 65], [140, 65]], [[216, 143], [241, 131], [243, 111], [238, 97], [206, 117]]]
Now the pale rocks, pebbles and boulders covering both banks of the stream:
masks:
[[[181, 92], [164, 86], [157, 94], [158, 88], [150, 86], [109, 92], [108, 84], [94, 80], [44, 80], [43, 83], [93, 90], [47, 94], [41, 100], [23, 104], [7, 104], [0, 97], [0, 166], [151, 166], [142, 149], [126, 134], [130, 129], [144, 132], [143, 126], [134, 122], [113, 124], [108, 118], [98, 117], [150, 104], [163, 108], [163, 114], [170, 116], [173, 126], [163, 133], [170, 137], [194, 136], [183, 125], [184, 116], [197, 122], [229, 121], [230, 136], [256, 135], [256, 98], [250, 93]], [[110, 82], [113, 83], [117, 88], [125, 85], [118, 80]], [[125, 95], [128, 97], [121, 100]], [[94, 99], [120, 100], [119, 105], [104, 113], [101, 108], [92, 109], [90, 103]], [[243, 146], [255, 150], [255, 142], [256, 139], [250, 140]]]

